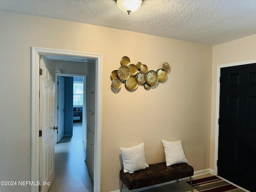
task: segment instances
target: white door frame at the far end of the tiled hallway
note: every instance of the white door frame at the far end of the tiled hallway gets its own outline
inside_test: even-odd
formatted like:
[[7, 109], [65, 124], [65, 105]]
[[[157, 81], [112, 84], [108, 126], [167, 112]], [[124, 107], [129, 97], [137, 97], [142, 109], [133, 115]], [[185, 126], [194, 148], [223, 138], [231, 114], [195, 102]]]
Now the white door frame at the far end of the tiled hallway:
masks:
[[[81, 74], [68, 74], [68, 73], [56, 73], [55, 74], [55, 84], [58, 82], [58, 76], [61, 76], [61, 77], [83, 77], [83, 87], [84, 87], [84, 93], [83, 93], [83, 113], [82, 113], [82, 141], [85, 142], [85, 134], [86, 134], [86, 75], [81, 75]], [[58, 100], [59, 100], [59, 96], [58, 96], [58, 86], [56, 86], [56, 106], [55, 106], [55, 122], [58, 122]], [[72, 120], [73, 121], [73, 120]], [[85, 124], [86, 123], [86, 124]], [[54, 143], [56, 144], [58, 141], [58, 138], [57, 138], [57, 134], [55, 136], [55, 140], [54, 140]]]

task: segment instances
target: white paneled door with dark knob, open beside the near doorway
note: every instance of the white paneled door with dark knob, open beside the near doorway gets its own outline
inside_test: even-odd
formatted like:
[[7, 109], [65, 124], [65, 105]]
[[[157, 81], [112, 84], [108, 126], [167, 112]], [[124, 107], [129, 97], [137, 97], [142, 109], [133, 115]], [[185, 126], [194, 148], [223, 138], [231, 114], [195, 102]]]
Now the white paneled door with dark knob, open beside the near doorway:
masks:
[[55, 66], [45, 56], [40, 56], [40, 69], [39, 181], [42, 192], [48, 192], [54, 180]]

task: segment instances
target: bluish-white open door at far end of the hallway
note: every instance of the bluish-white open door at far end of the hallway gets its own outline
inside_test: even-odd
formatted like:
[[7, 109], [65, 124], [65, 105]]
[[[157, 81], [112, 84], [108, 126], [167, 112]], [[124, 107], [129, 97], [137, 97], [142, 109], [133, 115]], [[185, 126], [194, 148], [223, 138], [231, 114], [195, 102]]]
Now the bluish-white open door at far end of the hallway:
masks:
[[64, 77], [58, 76], [58, 141], [64, 136]]

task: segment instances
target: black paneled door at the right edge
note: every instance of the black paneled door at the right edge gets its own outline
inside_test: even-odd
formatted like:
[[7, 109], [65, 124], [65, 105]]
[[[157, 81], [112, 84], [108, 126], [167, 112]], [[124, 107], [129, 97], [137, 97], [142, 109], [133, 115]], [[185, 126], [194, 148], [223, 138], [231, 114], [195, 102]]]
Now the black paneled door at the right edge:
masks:
[[256, 64], [220, 74], [218, 175], [256, 192]]

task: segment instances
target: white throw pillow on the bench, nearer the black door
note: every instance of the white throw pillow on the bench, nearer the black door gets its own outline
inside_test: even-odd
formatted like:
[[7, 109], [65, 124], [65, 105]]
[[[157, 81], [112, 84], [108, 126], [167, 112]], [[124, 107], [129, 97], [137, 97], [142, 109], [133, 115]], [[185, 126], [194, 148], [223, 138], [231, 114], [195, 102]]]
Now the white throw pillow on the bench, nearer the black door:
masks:
[[188, 163], [181, 140], [179, 141], [166, 141], [162, 140], [164, 146], [166, 166], [171, 166], [178, 163]]

